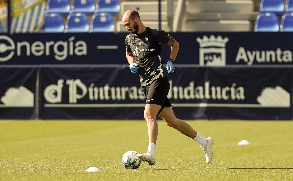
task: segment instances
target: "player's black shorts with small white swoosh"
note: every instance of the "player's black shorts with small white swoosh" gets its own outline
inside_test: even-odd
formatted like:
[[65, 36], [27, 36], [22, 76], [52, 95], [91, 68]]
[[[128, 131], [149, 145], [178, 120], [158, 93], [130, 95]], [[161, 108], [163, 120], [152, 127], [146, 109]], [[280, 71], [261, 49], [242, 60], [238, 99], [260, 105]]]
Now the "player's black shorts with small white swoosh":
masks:
[[142, 86], [144, 95], [147, 98], [146, 104], [161, 105], [162, 107], [158, 114], [162, 111], [164, 107], [171, 107], [171, 102], [167, 98], [169, 89], [170, 84], [167, 77], [160, 77], [151, 82], [151, 84]]

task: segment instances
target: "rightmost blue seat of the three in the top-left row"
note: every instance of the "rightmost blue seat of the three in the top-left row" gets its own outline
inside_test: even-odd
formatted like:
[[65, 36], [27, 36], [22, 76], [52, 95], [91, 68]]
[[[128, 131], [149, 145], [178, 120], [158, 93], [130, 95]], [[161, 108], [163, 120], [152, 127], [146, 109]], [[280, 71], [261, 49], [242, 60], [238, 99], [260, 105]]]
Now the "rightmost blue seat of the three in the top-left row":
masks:
[[119, 0], [98, 0], [96, 12], [116, 15], [120, 12], [120, 2]]

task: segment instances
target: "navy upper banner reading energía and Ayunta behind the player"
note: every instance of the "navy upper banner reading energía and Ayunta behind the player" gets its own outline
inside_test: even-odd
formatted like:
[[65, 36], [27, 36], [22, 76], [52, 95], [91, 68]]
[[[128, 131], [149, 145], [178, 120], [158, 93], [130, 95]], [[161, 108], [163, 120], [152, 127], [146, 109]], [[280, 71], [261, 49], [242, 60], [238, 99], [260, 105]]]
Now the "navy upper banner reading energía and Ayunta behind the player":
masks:
[[[126, 64], [128, 33], [0, 34], [2, 64]], [[293, 65], [292, 33], [170, 33], [180, 49], [176, 65], [202, 67]], [[162, 45], [168, 60], [171, 48]], [[139, 48], [139, 47], [138, 47]], [[138, 50], [139, 51], [139, 50]], [[142, 52], [142, 50], [140, 51]]]

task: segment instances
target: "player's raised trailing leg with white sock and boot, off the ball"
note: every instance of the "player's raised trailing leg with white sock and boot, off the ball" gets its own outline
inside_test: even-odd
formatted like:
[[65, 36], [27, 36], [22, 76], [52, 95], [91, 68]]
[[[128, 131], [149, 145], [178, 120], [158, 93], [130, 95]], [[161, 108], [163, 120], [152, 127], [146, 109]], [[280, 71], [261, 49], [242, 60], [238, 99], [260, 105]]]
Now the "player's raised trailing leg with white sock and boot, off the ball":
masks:
[[177, 129], [184, 135], [197, 141], [197, 143], [200, 144], [202, 151], [205, 153], [206, 162], [210, 163], [212, 161], [212, 144], [214, 140], [211, 137], [202, 137], [188, 123], [176, 118], [172, 107], [164, 107], [159, 116], [168, 126]]

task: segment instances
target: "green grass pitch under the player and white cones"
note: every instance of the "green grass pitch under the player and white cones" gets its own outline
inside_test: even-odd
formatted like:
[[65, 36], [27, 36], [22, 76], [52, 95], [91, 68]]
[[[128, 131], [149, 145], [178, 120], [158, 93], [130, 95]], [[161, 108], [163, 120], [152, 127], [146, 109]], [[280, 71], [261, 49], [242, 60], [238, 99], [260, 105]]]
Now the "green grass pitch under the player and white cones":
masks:
[[[0, 180], [293, 180], [292, 121], [186, 122], [214, 138], [210, 164], [163, 121], [156, 165], [137, 170], [126, 170], [121, 157], [147, 151], [145, 121], [0, 121]], [[85, 172], [91, 166], [102, 171]]]

